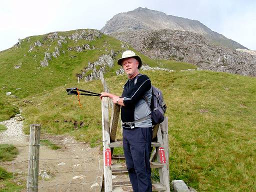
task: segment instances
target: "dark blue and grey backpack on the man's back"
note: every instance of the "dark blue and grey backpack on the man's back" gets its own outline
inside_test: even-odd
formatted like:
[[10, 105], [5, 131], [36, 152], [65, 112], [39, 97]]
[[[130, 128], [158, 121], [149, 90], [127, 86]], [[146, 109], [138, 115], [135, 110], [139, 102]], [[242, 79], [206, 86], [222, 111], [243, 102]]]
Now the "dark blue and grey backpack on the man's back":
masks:
[[143, 96], [144, 100], [146, 101], [147, 106], [149, 107], [151, 114], [151, 120], [152, 125], [155, 125], [157, 123], [161, 123], [164, 120], [164, 113], [166, 111], [166, 104], [163, 101], [162, 92], [159, 88], [156, 88], [155, 86], [152, 87], [152, 97], [151, 97], [151, 103], [150, 106], [146, 100], [146, 98]]

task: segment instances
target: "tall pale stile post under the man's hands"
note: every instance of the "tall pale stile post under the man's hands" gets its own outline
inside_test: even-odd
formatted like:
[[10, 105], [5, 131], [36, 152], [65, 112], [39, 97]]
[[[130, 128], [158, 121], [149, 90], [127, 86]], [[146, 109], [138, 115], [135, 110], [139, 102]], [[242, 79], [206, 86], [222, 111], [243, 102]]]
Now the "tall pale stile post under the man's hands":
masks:
[[102, 112], [102, 137], [103, 137], [103, 167], [104, 167], [104, 191], [112, 191], [112, 172], [110, 166], [105, 166], [105, 149], [110, 148], [110, 128], [108, 120], [108, 104], [107, 98], [103, 97], [101, 100]]

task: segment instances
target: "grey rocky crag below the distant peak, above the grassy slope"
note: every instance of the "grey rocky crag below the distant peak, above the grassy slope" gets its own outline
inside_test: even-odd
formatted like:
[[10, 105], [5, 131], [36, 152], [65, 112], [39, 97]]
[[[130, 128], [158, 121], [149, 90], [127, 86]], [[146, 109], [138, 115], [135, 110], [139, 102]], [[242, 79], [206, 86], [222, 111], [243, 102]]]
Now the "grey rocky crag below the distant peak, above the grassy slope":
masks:
[[255, 55], [214, 45], [198, 33], [161, 29], [111, 35], [150, 58], [174, 59], [195, 64], [198, 69], [256, 76]]

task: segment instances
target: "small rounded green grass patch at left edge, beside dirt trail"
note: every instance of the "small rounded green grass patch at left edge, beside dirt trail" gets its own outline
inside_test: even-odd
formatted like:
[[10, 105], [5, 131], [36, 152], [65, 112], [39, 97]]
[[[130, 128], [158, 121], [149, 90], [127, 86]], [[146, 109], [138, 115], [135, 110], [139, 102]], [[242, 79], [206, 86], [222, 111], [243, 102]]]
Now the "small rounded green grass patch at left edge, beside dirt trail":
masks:
[[18, 149], [12, 144], [0, 144], [0, 161], [11, 161], [18, 154]]

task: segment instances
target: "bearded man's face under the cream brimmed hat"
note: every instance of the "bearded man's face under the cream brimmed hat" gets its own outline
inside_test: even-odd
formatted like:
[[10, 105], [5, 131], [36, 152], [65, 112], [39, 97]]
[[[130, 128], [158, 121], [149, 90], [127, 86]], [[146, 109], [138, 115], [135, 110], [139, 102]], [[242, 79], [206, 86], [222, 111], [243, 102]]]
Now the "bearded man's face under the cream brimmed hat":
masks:
[[121, 64], [128, 78], [133, 78], [138, 74], [138, 61], [135, 58], [133, 57], [124, 58], [122, 59]]

